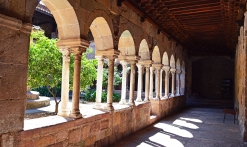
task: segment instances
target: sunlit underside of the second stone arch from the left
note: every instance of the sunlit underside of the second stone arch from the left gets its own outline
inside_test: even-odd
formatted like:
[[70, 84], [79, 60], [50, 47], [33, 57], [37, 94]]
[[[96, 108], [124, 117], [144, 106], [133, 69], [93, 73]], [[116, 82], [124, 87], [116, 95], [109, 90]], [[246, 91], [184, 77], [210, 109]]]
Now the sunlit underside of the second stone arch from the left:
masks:
[[110, 27], [103, 17], [97, 17], [90, 25], [97, 50], [113, 49], [113, 38]]

